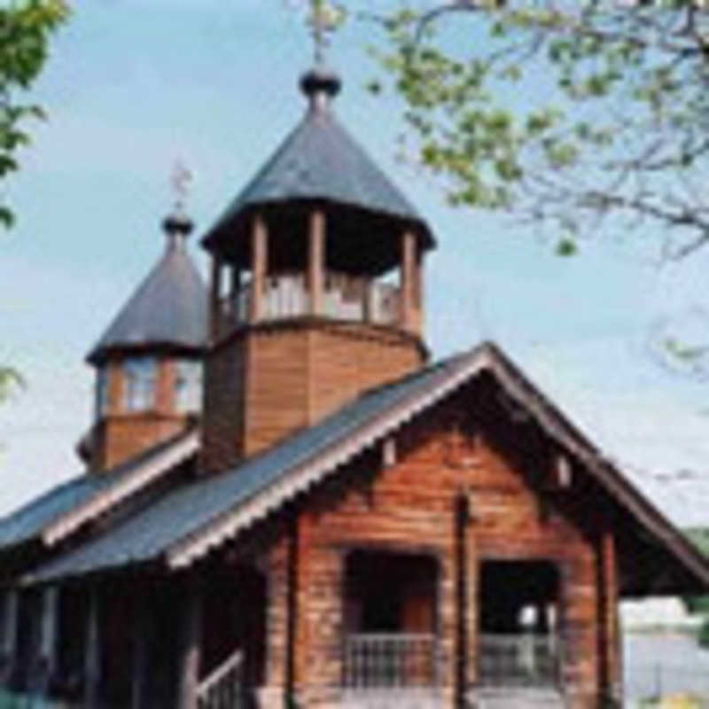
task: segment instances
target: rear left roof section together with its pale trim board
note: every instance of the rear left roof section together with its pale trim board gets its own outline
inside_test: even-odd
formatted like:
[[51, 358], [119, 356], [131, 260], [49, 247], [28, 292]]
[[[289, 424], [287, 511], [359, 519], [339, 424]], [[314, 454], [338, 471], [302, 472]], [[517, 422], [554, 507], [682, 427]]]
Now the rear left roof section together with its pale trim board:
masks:
[[52, 546], [111, 509], [199, 449], [196, 431], [182, 433], [101, 474], [70, 479], [0, 518], [0, 550], [28, 541]]

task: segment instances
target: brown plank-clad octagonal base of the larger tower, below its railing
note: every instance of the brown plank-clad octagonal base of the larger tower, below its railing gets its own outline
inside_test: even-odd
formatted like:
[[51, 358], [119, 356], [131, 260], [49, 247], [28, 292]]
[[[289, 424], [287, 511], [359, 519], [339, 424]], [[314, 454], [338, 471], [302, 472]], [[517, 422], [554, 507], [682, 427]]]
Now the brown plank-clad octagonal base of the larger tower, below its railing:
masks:
[[419, 341], [318, 319], [245, 329], [208, 355], [203, 468], [223, 470], [417, 370]]

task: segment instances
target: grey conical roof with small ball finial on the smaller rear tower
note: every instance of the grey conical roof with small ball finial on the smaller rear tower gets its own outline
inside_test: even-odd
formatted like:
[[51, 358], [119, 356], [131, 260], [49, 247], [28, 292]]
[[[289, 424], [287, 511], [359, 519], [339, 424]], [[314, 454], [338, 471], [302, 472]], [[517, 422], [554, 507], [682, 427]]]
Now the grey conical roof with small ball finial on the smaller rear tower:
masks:
[[206, 286], [184, 245], [185, 222], [168, 218], [165, 226], [168, 248], [90, 351], [89, 362], [112, 350], [204, 347]]

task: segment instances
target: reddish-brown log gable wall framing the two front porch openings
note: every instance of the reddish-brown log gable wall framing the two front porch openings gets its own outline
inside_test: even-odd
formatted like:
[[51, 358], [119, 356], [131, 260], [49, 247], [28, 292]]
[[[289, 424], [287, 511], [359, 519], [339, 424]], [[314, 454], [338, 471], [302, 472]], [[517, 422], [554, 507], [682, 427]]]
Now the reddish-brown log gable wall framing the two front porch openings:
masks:
[[[551, 456], [541, 438], [524, 425], [479, 416], [475, 391], [460, 393], [427, 412], [397, 436], [398, 461], [386, 470], [371, 451], [303, 501], [298, 522], [298, 588], [289, 609], [287, 549], [283, 541], [268, 560], [267, 690], [283, 690], [288, 666], [288, 617], [294, 613], [294, 690], [308, 707], [338, 705], [342, 681], [343, 578], [353, 549], [428, 554], [438, 565], [436, 627], [441, 638], [441, 679], [445, 704], [453, 706], [456, 680], [474, 685], [478, 667], [479, 567], [486, 560], [545, 561], [560, 578], [563, 681], [570, 709], [600, 704], [604, 643], [608, 673], [618, 674], [618, 635], [604, 626], [617, 597], [614, 576], [604, 573], [607, 598], [599, 603], [597, 535], [593, 500], [564, 499], [540, 481], [548, 478]], [[531, 441], [531, 442], [530, 442]], [[456, 545], [456, 501], [468, 496], [471, 517], [464, 527], [464, 554]], [[458, 526], [458, 529], [460, 527]], [[292, 547], [290, 547], [292, 548]], [[605, 552], [606, 566], [614, 562]], [[464, 565], [464, 569], [458, 568]], [[464, 575], [464, 603], [459, 579]], [[456, 588], [457, 587], [457, 588]], [[386, 594], [387, 588], [382, 588]], [[613, 616], [614, 617], [614, 616]], [[456, 672], [460, 624], [467, 633], [467, 672]], [[613, 648], [610, 648], [610, 645]], [[457, 688], [458, 693], [461, 688]], [[467, 689], [467, 688], [464, 688]], [[275, 692], [280, 695], [280, 691]], [[271, 693], [273, 698], [274, 694]], [[269, 706], [276, 706], [271, 705]]]

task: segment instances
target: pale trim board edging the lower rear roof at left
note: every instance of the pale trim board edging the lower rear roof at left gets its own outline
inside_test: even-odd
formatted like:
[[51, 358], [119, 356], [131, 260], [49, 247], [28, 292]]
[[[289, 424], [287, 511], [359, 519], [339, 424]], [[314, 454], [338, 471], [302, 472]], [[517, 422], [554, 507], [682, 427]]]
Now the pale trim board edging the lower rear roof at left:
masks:
[[[159, 445], [153, 449], [142, 464], [135, 470], [118, 479], [116, 483], [105, 491], [90, 497], [74, 509], [54, 520], [49, 526], [44, 527], [42, 541], [52, 547], [59, 541], [66, 539], [82, 524], [99, 517], [113, 506], [121, 503], [130, 495], [143, 489], [153, 480], [161, 478], [166, 472], [173, 470], [177, 465], [184, 463], [188, 458], [199, 451], [199, 431], [191, 431], [181, 435], [166, 447]], [[145, 456], [140, 456], [144, 458]], [[111, 473], [101, 473], [110, 475]]]

